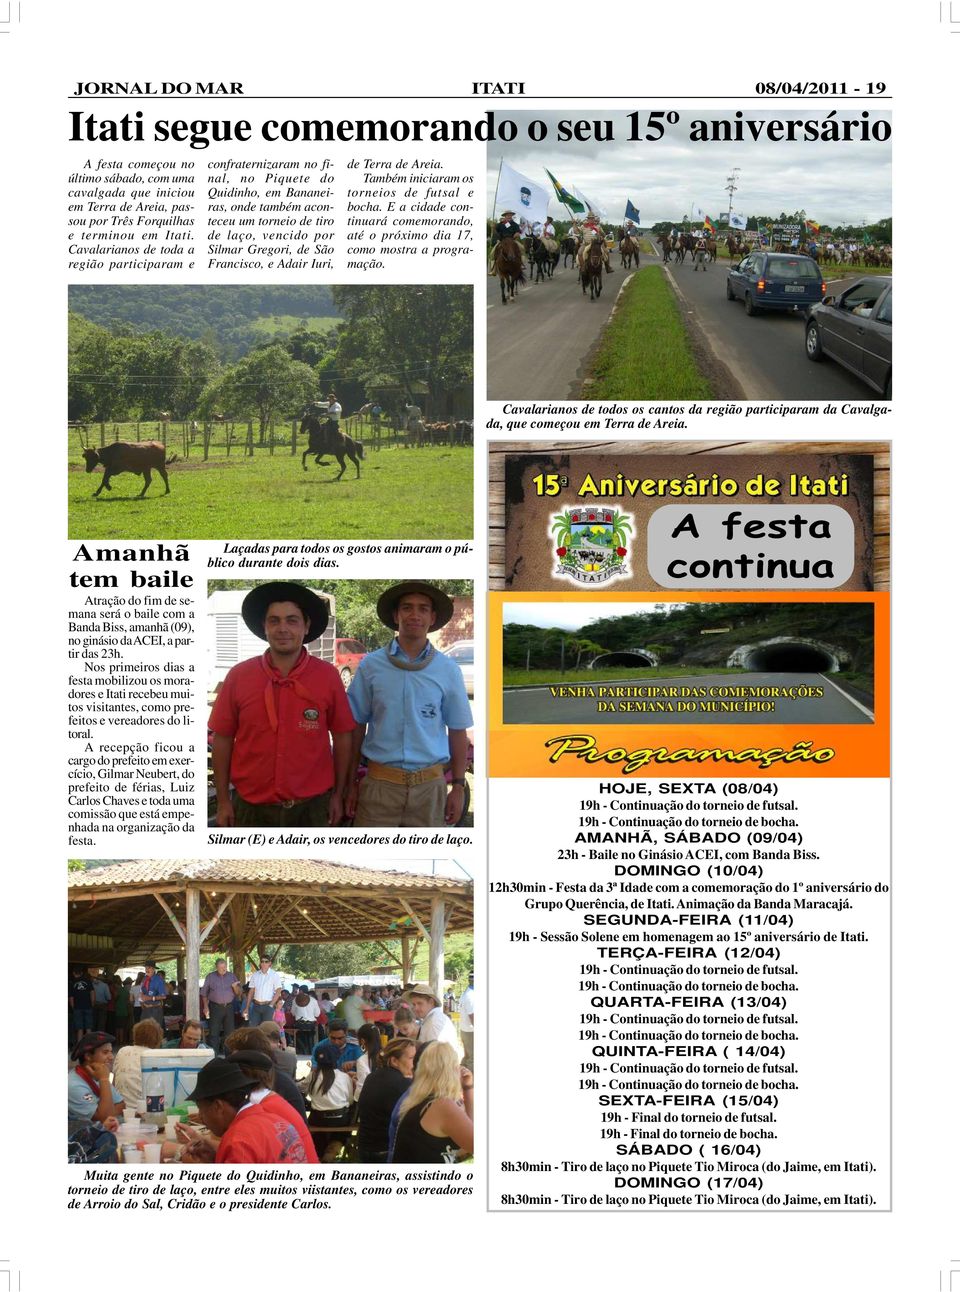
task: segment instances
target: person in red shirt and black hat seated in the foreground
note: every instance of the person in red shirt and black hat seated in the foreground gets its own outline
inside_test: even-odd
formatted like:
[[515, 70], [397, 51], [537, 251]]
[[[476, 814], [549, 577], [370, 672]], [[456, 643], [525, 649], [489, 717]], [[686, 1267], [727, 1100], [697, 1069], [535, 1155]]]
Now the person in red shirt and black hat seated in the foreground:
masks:
[[[235, 1035], [235, 1034], [234, 1034]], [[200, 1068], [194, 1101], [200, 1120], [216, 1136], [216, 1147], [207, 1137], [191, 1138], [181, 1150], [190, 1163], [304, 1164], [309, 1158], [297, 1127], [275, 1109], [265, 1109], [251, 1096], [262, 1088], [238, 1063], [212, 1058]], [[190, 1136], [183, 1129], [181, 1136]], [[314, 1154], [313, 1160], [317, 1160]]]

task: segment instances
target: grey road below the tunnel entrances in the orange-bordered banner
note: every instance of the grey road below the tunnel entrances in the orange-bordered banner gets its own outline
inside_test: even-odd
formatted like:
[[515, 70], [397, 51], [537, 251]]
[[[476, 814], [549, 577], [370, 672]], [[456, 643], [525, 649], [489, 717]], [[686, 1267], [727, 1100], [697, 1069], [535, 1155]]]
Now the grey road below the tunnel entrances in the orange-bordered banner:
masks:
[[[584, 683], [571, 683], [571, 689]], [[705, 724], [783, 724], [796, 722], [805, 726], [842, 722], [867, 724], [872, 722], [872, 714], [858, 705], [844, 694], [833, 682], [819, 673], [707, 673], [702, 677], [645, 677], [643, 671], [637, 671], [632, 677], [607, 677], [597, 674], [597, 681], [588, 683], [597, 694], [584, 696], [565, 696], [562, 699], [550, 695], [547, 686], [516, 687], [504, 691], [504, 722], [517, 724], [558, 724], [566, 727], [578, 726], [590, 730], [601, 724], [620, 725], [655, 725], [655, 726], [703, 726]], [[628, 694], [600, 694], [600, 687], [628, 687]], [[672, 696], [669, 693], [676, 687], [681, 694]], [[678, 703], [695, 704], [698, 698], [682, 694], [691, 689], [722, 687], [725, 690], [738, 687], [819, 687], [822, 696], [722, 696], [707, 695], [699, 704], [718, 704], [721, 700], [738, 700], [740, 703], [766, 704], [774, 700], [773, 711], [731, 712], [720, 709], [699, 708], [698, 711], [678, 712]], [[611, 705], [606, 712], [598, 712], [598, 702]], [[668, 700], [671, 711], [656, 712], [652, 705], [658, 700]], [[650, 705], [643, 711], [642, 705]], [[620, 707], [623, 705], [623, 707]], [[628, 708], [628, 705], [637, 705]]]

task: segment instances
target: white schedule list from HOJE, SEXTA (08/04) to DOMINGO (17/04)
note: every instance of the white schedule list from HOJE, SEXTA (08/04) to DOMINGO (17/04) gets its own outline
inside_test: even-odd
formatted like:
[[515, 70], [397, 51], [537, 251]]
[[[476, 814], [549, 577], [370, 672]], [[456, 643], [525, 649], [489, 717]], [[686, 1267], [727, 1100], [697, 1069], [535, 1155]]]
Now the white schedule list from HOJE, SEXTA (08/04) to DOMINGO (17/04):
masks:
[[492, 1209], [889, 1207], [888, 796], [491, 782]]

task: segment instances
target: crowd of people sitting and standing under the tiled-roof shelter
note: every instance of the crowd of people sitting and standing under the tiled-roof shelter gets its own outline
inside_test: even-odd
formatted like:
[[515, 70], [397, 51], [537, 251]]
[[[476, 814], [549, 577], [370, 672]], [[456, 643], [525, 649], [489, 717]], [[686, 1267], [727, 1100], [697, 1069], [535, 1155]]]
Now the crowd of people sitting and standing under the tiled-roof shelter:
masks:
[[[97, 983], [106, 992], [97, 992]], [[287, 990], [267, 956], [240, 985], [218, 960], [203, 982], [203, 1017], [178, 1018], [167, 1040], [163, 1009], [183, 985], [171, 987], [150, 964], [136, 982], [75, 970], [71, 1162], [118, 1160], [120, 1119], [146, 1110], [142, 1056], [163, 1047], [213, 1053], [196, 1076], [196, 1112], [177, 1124], [176, 1140], [163, 1141], [162, 1160], [336, 1160], [354, 1136], [363, 1163], [443, 1163], [473, 1154], [473, 974], [457, 1003], [424, 982], [341, 994], [319, 983]], [[118, 1001], [127, 1008], [118, 1010]], [[264, 1006], [271, 1009], [267, 1017]], [[367, 1013], [381, 1017], [367, 1021]], [[116, 1027], [120, 1018], [129, 1023], [129, 1040], [98, 1026]], [[298, 1065], [308, 1067], [300, 1080]]]

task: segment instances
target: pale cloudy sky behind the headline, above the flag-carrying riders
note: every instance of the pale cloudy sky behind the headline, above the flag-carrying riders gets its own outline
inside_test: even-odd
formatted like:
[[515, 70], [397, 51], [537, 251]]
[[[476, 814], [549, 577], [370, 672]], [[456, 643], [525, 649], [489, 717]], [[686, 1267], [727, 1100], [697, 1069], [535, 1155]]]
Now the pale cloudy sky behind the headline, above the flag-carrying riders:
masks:
[[[839, 112], [837, 118], [859, 120], [859, 109]], [[572, 109], [559, 112], [509, 112], [519, 127], [512, 143], [494, 141], [487, 145], [487, 212], [492, 211], [500, 159], [536, 183], [550, 187], [544, 174], [549, 167], [566, 187], [576, 186], [588, 198], [606, 208], [610, 221], [620, 220], [629, 198], [640, 211], [641, 227], [660, 220], [677, 220], [702, 207], [713, 220], [726, 213], [727, 176], [740, 168], [734, 194], [735, 212], [779, 216], [805, 211], [818, 224], [872, 224], [893, 214], [890, 158], [893, 141], [861, 142], [771, 142], [751, 140], [746, 143], [690, 142], [693, 119], [734, 119], [735, 109], [704, 109], [681, 112], [676, 125], [667, 125], [656, 142], [628, 142], [627, 112], [600, 109]], [[810, 109], [761, 112], [752, 107], [744, 118], [810, 120], [826, 114]], [[641, 114], [646, 120], [646, 110]], [[527, 124], [539, 118], [548, 125], [543, 143], [527, 136]], [[557, 121], [578, 119], [612, 121], [614, 141], [596, 140], [558, 143]], [[870, 120], [890, 120], [889, 112], [872, 111]], [[499, 212], [497, 212], [499, 214]], [[556, 200], [550, 214], [566, 218]]]

